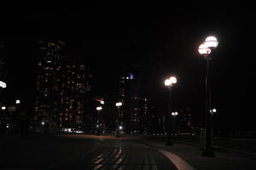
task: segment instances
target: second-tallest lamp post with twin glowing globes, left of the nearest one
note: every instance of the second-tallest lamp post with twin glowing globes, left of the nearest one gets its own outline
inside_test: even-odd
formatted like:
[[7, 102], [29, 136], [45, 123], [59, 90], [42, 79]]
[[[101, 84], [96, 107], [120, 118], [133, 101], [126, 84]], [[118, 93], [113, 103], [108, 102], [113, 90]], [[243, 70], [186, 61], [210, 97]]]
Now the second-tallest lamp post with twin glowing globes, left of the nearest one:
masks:
[[169, 126], [168, 128], [168, 137], [167, 137], [167, 141], [166, 141], [166, 145], [173, 145], [172, 142], [172, 132], [171, 132], [171, 113], [172, 113], [172, 88], [173, 85], [177, 82], [177, 78], [176, 77], [170, 77], [169, 79], [166, 79], [165, 81], [165, 85], [168, 88], [169, 91], [169, 104], [168, 104], [168, 113], [167, 113], [167, 117], [169, 120]]

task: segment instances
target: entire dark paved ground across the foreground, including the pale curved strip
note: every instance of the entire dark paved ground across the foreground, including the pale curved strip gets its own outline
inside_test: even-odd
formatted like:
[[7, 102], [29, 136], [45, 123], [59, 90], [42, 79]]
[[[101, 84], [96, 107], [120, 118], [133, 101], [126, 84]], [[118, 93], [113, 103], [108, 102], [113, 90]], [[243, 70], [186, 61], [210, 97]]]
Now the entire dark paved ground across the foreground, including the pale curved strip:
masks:
[[[214, 144], [222, 145], [214, 148], [215, 157], [201, 156], [197, 138], [181, 137], [173, 141], [173, 146], [167, 146], [165, 139], [159, 137], [122, 136], [116, 139], [114, 135], [9, 134], [0, 136], [0, 169], [256, 169], [253, 140], [215, 139]], [[239, 147], [239, 144], [247, 145]], [[235, 150], [233, 145], [240, 150]]]

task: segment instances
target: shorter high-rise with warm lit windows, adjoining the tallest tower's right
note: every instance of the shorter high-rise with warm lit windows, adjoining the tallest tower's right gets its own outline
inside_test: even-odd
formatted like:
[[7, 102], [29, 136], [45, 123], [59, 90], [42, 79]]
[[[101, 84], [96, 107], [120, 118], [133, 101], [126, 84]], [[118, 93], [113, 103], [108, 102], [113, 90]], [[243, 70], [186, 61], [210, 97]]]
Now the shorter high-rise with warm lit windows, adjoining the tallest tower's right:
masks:
[[81, 59], [64, 59], [61, 62], [59, 102], [57, 124], [62, 129], [84, 129], [87, 122], [85, 115], [89, 114], [88, 98], [90, 93], [91, 75], [87, 65]]

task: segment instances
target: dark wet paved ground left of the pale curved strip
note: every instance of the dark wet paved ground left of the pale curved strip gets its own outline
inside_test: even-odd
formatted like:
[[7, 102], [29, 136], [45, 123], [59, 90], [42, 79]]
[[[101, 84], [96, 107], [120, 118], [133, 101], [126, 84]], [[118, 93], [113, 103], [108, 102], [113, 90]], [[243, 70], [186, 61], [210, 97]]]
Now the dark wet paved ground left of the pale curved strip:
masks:
[[153, 147], [114, 137], [30, 135], [1, 139], [0, 169], [177, 169]]

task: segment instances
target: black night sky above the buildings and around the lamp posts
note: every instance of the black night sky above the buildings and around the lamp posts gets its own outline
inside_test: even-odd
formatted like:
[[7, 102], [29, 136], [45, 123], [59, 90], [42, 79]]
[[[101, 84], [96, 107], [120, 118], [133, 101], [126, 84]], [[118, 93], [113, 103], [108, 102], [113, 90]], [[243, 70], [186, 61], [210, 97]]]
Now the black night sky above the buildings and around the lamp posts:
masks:
[[[143, 7], [143, 8], [142, 8]], [[202, 15], [204, 14], [204, 15]], [[19, 97], [33, 105], [36, 42], [43, 34], [67, 41], [69, 57], [83, 57], [95, 76], [95, 91], [115, 102], [118, 78], [135, 66], [143, 70], [149, 99], [166, 109], [168, 75], [177, 76], [175, 107], [189, 106], [204, 122], [205, 62], [197, 48], [208, 35], [219, 46], [212, 52], [212, 107], [221, 126], [254, 128], [247, 93], [251, 77], [238, 51], [241, 15], [236, 8], [206, 9], [191, 6], [88, 5], [62, 10], [19, 11], [2, 14], [0, 41], [8, 58], [9, 99]], [[135, 73], [136, 74], [136, 73]], [[201, 117], [201, 118], [200, 118]]]

